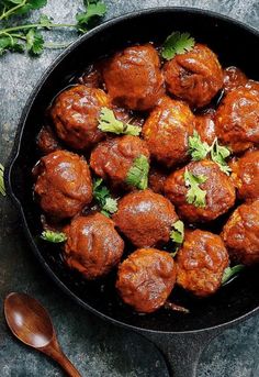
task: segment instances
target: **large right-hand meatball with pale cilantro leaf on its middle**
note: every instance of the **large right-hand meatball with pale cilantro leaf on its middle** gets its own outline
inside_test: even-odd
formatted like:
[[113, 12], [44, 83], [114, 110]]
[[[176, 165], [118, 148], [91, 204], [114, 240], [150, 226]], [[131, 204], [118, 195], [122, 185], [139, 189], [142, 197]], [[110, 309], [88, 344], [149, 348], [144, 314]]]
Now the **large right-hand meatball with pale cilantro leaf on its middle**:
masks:
[[[199, 188], [205, 191], [204, 207], [196, 207], [187, 201], [187, 193], [190, 190], [184, 181], [187, 170], [195, 177], [206, 178], [203, 184], [199, 185]], [[230, 178], [219, 169], [217, 164], [207, 159], [191, 162], [185, 167], [173, 171], [165, 182], [165, 193], [178, 208], [179, 215], [189, 222], [215, 220], [235, 203], [235, 187]]]

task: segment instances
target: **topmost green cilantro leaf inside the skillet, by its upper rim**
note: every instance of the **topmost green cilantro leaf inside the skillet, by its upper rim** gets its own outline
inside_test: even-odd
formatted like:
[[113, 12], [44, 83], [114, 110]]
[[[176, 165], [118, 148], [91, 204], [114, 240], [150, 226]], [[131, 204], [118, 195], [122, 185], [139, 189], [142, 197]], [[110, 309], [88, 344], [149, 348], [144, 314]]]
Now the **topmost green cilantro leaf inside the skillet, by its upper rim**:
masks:
[[162, 44], [161, 56], [170, 60], [176, 55], [184, 54], [194, 47], [195, 41], [189, 33], [173, 32]]

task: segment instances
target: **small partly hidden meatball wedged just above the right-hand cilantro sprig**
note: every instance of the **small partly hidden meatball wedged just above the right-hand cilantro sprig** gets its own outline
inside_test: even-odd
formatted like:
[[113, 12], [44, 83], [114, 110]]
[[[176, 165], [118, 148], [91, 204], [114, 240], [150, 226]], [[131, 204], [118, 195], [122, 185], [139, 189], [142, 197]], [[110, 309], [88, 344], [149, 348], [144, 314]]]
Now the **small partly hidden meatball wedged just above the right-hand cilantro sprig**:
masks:
[[207, 144], [212, 144], [216, 137], [214, 119], [214, 109], [209, 109], [203, 114], [195, 117], [195, 130], [200, 134], [201, 140]]

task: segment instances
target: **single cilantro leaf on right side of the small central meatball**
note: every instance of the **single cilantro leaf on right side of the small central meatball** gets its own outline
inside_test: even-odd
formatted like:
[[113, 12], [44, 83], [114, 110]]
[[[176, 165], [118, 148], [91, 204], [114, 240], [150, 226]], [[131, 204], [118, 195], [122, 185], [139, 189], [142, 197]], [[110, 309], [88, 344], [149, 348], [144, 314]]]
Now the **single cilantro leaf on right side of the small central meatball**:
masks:
[[149, 163], [144, 155], [134, 159], [133, 166], [127, 171], [126, 184], [145, 190], [148, 185]]

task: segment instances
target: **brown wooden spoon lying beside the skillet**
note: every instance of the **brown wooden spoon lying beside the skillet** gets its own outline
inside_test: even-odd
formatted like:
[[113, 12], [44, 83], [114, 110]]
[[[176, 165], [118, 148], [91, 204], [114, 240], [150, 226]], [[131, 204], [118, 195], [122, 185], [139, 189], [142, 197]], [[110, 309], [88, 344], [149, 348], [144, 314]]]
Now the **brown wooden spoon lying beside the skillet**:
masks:
[[25, 293], [10, 293], [4, 300], [4, 315], [12, 333], [26, 345], [55, 359], [70, 377], [81, 377], [63, 353], [47, 311]]

